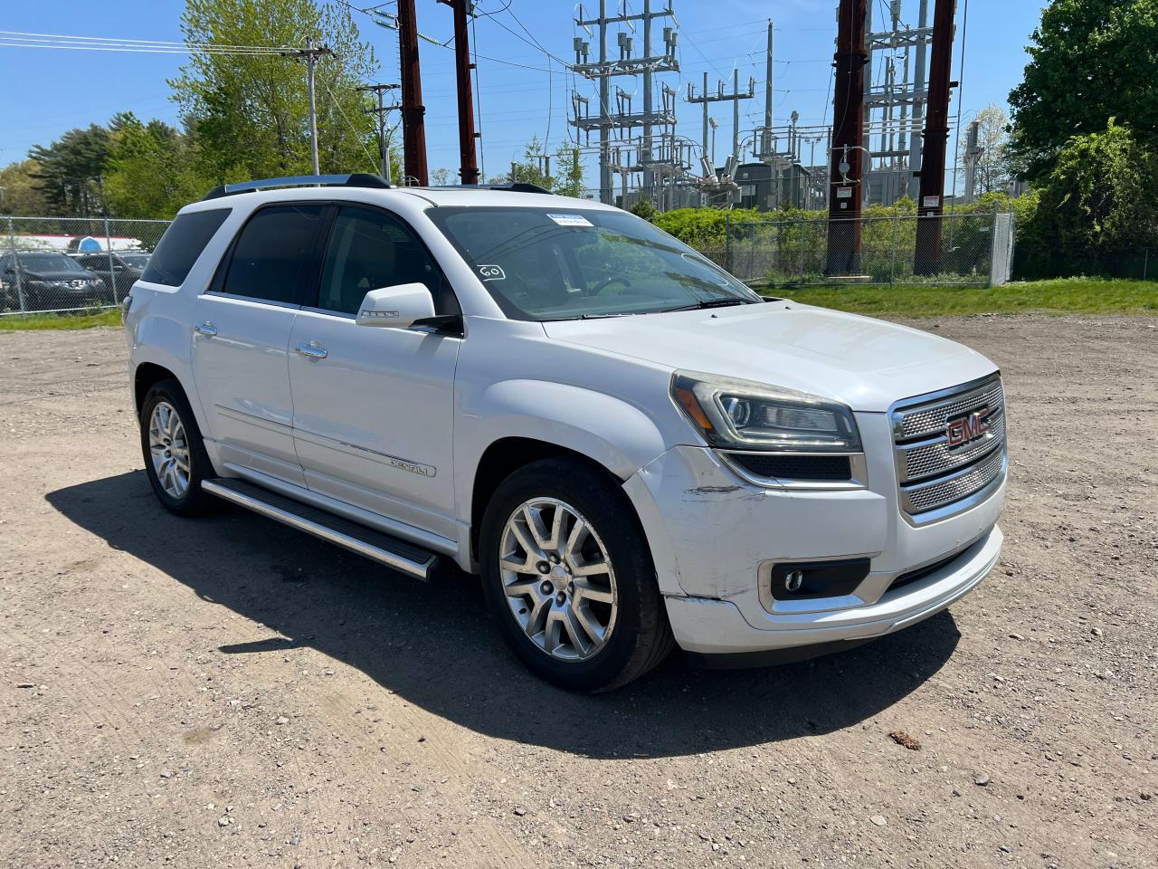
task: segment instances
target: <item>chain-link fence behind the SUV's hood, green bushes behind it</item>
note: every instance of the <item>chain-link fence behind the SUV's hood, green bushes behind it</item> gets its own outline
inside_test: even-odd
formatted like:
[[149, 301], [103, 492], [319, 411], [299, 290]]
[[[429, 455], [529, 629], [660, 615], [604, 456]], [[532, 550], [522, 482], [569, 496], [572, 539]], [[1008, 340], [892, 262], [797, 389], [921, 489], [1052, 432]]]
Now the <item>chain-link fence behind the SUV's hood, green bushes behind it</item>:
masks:
[[741, 280], [772, 286], [989, 286], [1009, 280], [1013, 221], [1010, 214], [728, 220], [723, 244], [702, 253]]

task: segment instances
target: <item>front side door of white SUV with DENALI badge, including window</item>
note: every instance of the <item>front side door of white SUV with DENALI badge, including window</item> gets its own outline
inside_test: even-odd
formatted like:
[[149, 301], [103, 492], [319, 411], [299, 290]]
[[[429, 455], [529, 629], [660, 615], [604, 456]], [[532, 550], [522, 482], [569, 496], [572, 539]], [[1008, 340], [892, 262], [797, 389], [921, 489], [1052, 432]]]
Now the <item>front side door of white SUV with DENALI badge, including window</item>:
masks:
[[450, 455], [461, 338], [358, 326], [371, 290], [422, 283], [435, 309], [457, 304], [434, 260], [400, 218], [338, 209], [315, 307], [290, 337], [298, 458], [310, 489], [456, 539]]

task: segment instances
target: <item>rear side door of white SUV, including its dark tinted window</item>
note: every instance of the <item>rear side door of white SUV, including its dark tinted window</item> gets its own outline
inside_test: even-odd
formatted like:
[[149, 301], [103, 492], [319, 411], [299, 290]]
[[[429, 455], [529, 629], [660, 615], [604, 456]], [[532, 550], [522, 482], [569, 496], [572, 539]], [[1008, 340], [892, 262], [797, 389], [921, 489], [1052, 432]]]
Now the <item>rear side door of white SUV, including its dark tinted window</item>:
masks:
[[195, 304], [193, 375], [222, 461], [298, 485], [290, 331], [316, 282], [327, 216], [313, 203], [258, 209]]

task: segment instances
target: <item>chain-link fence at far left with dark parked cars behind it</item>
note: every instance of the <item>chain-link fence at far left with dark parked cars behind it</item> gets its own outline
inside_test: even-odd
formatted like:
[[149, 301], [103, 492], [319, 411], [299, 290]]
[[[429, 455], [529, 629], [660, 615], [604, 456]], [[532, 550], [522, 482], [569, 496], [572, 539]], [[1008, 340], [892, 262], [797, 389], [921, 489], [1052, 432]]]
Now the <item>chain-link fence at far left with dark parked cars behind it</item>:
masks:
[[0, 217], [0, 316], [115, 307], [168, 220]]

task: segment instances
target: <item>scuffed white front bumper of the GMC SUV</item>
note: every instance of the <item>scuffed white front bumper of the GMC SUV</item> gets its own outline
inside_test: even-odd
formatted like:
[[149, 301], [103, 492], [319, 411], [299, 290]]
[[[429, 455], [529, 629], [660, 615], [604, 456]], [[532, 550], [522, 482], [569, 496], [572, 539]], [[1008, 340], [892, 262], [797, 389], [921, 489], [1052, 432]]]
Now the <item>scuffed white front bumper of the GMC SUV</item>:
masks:
[[[708, 448], [674, 447], [624, 489], [639, 513], [676, 642], [732, 656], [835, 644], [842, 648], [926, 619], [973, 590], [996, 565], [1004, 473], [979, 504], [928, 525], [899, 506], [892, 434], [884, 414], [857, 414], [867, 485], [838, 491], [765, 489]], [[910, 571], [954, 557], [903, 586]], [[774, 600], [771, 564], [868, 558], [850, 593]]]

